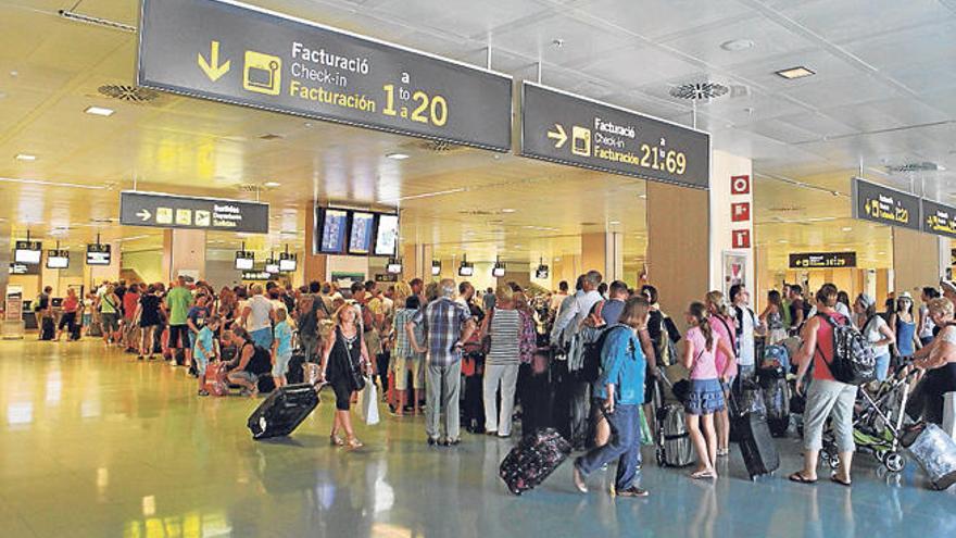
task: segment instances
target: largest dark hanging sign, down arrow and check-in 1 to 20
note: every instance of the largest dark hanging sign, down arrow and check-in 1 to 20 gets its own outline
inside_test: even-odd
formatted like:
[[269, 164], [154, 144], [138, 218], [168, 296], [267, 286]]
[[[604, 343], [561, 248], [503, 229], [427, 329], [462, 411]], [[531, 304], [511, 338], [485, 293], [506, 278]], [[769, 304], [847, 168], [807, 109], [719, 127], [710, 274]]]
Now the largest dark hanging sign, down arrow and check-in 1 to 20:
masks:
[[143, 0], [141, 86], [499, 151], [512, 79], [235, 2]]

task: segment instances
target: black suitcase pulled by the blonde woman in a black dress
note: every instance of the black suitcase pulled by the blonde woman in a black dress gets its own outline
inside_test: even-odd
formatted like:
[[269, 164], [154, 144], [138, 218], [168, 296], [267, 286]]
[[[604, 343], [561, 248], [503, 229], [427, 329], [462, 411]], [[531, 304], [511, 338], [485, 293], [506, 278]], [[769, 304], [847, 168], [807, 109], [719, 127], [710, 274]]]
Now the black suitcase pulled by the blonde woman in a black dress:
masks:
[[247, 425], [253, 439], [268, 439], [291, 434], [318, 405], [316, 387], [302, 383], [287, 385], [266, 398]]

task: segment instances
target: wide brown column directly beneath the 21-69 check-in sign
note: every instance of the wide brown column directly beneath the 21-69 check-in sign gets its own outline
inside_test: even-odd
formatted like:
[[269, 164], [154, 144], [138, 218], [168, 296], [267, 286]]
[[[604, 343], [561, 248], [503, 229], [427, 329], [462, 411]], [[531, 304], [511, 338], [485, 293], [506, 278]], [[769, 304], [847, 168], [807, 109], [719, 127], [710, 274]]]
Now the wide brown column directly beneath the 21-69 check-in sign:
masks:
[[647, 280], [679, 326], [709, 286], [708, 204], [705, 190], [647, 182]]

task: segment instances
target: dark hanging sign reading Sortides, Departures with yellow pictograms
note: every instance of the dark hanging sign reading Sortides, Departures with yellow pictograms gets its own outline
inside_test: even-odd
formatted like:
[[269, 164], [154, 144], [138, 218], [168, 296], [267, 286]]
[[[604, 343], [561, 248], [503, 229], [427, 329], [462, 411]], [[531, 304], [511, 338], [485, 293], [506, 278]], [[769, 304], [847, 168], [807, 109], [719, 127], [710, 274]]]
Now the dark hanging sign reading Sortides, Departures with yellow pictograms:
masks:
[[268, 204], [124, 190], [120, 224], [267, 234]]

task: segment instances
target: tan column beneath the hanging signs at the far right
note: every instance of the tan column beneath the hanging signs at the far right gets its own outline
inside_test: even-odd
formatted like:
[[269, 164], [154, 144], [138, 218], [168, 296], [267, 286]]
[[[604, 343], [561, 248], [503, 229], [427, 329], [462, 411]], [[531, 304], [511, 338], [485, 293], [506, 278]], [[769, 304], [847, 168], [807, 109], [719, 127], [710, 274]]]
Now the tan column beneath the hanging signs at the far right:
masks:
[[923, 286], [940, 281], [941, 258], [948, 257], [948, 250], [940, 252], [942, 246], [936, 236], [893, 228], [893, 286], [897, 295], [909, 291], [919, 297]]

